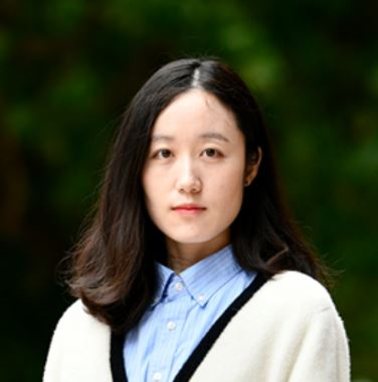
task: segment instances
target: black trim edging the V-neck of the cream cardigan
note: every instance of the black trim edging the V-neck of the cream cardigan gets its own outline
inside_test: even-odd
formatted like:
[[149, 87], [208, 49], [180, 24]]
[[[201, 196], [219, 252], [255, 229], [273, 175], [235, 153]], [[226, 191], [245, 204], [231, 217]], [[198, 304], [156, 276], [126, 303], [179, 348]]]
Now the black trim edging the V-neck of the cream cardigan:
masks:
[[[211, 350], [211, 346], [217, 341], [220, 333], [226, 328], [232, 317], [247, 303], [258, 289], [263, 286], [268, 278], [262, 273], [241, 292], [241, 294], [229, 305], [229, 307], [220, 315], [218, 320], [212, 324], [210, 330], [205, 334], [192, 354], [185, 361], [183, 367], [175, 376], [174, 382], [186, 382], [194, 374], [194, 371], [201, 364], [206, 354]], [[123, 362], [123, 342], [124, 334], [114, 334], [111, 337], [111, 366], [113, 382], [128, 382], [127, 373]]]

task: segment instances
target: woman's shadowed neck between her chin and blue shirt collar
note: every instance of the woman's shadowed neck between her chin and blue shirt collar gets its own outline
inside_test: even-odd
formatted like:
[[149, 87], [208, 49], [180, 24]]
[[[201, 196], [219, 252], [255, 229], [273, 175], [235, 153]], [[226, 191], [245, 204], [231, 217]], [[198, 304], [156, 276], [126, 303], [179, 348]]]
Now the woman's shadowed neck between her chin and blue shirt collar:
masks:
[[214, 240], [190, 244], [166, 239], [166, 250], [168, 252], [167, 266], [179, 274], [184, 269], [221, 250], [227, 244], [229, 244], [229, 239], [226, 241], [224, 238], [221, 241]]

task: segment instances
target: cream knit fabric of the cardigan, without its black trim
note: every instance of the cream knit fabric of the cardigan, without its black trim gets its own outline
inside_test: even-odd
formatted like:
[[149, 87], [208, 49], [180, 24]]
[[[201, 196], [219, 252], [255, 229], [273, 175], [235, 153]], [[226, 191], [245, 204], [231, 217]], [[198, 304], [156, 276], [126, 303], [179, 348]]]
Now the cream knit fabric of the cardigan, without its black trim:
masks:
[[[110, 328], [77, 301], [58, 323], [43, 381], [112, 382], [110, 353]], [[349, 369], [346, 332], [329, 293], [285, 271], [238, 309], [189, 380], [348, 382]]]

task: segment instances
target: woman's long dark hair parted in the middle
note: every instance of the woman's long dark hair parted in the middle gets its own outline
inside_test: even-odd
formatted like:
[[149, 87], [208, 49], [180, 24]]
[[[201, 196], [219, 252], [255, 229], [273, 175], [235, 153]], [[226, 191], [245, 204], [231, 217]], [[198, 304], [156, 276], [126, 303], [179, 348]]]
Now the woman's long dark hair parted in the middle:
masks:
[[165, 238], [148, 217], [141, 175], [157, 116], [193, 88], [216, 96], [234, 114], [245, 138], [247, 163], [258, 159], [259, 149], [263, 153], [231, 225], [240, 266], [266, 275], [294, 269], [320, 280], [324, 276], [288, 214], [266, 123], [246, 84], [218, 60], [176, 60], [157, 70], [131, 100], [112, 147], [96, 214], [73, 253], [71, 293], [115, 332], [138, 323], [157, 286], [154, 261], [166, 260]]

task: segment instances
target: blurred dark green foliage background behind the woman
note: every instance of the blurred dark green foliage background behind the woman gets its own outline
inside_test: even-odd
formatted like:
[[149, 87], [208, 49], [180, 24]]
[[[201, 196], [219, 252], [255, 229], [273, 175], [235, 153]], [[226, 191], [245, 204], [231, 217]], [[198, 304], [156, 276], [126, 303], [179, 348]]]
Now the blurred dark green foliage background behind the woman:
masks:
[[1, 380], [40, 381], [71, 301], [57, 264], [130, 97], [167, 61], [211, 55], [257, 94], [298, 221], [340, 271], [353, 379], [378, 381], [377, 14], [375, 0], [2, 0]]

